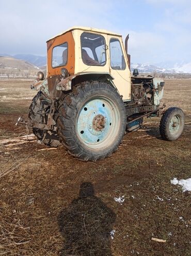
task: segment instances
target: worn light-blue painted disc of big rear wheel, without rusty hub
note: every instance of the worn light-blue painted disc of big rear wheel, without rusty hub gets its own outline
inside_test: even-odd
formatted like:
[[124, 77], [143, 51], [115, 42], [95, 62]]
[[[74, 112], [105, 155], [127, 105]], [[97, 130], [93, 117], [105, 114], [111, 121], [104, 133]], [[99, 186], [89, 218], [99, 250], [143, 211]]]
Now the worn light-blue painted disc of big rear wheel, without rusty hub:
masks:
[[[93, 148], [110, 136], [115, 119], [113, 109], [114, 104], [103, 97], [92, 98], [84, 104], [77, 119], [77, 134], [84, 144]], [[98, 115], [102, 115], [105, 119], [105, 125], [101, 130], [95, 130], [93, 126], [93, 120]]]

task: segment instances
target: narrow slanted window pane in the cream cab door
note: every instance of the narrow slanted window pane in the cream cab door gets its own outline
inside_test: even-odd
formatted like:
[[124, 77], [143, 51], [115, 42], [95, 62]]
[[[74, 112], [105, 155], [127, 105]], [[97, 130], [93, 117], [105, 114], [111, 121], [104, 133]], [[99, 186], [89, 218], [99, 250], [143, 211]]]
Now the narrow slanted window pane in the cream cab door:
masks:
[[113, 69], [124, 70], [126, 67], [120, 41], [116, 38], [110, 39], [110, 65]]

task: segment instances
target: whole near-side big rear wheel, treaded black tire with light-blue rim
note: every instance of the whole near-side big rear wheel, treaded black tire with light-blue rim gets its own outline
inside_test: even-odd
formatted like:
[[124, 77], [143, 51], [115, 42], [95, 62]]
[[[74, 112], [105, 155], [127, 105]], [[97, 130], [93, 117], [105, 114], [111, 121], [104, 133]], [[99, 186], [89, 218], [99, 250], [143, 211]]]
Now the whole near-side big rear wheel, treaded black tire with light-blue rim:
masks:
[[107, 83], [77, 84], [61, 102], [58, 135], [72, 155], [83, 161], [109, 157], [125, 133], [124, 103]]

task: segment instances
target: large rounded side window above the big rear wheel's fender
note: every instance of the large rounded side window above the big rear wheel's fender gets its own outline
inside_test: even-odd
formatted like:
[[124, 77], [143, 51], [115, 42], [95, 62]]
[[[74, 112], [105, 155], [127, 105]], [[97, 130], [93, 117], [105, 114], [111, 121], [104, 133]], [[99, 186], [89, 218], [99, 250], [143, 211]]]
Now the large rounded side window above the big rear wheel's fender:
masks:
[[82, 33], [82, 60], [86, 65], [104, 66], [106, 63], [105, 38], [98, 34]]

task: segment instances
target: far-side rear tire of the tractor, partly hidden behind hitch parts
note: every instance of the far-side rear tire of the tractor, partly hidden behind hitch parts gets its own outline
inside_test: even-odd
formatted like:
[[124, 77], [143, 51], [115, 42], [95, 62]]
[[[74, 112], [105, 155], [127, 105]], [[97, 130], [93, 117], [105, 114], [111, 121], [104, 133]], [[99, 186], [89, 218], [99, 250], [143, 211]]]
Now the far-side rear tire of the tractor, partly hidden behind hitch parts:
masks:
[[[29, 107], [28, 118], [40, 124], [47, 123], [47, 115], [43, 112], [48, 112], [50, 109], [50, 104], [46, 100], [44, 94], [39, 91], [37, 95], [33, 98], [32, 103]], [[37, 138], [42, 141], [43, 144], [50, 147], [58, 147], [62, 144], [59, 142], [59, 137], [54, 131], [46, 131], [38, 128], [33, 128], [33, 133], [37, 136]]]

